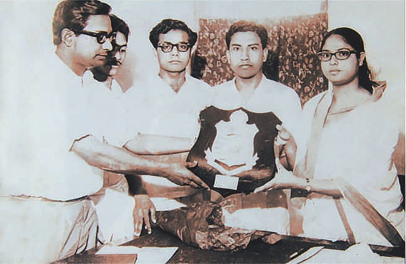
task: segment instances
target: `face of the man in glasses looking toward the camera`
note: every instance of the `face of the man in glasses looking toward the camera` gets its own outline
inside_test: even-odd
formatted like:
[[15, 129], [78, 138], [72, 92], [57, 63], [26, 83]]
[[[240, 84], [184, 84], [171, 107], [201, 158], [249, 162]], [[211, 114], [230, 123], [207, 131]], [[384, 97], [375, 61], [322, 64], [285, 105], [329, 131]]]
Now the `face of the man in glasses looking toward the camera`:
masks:
[[190, 60], [190, 48], [187, 51], [181, 52], [177, 47], [173, 47], [170, 52], [163, 52], [159, 47], [167, 44], [187, 44], [188, 35], [185, 31], [173, 29], [166, 34], [159, 34], [158, 48], [156, 56], [161, 70], [168, 72], [181, 72], [186, 69]]

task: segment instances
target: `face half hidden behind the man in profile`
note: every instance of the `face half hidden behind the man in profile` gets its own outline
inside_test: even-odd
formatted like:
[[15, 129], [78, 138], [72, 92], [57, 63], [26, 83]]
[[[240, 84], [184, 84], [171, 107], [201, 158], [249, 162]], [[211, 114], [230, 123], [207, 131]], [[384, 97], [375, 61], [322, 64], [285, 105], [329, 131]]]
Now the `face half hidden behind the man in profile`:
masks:
[[112, 45], [113, 50], [108, 52], [105, 63], [96, 68], [101, 73], [106, 74], [106, 76], [114, 77], [118, 69], [124, 63], [127, 55], [127, 41], [125, 40], [124, 34], [117, 32]]

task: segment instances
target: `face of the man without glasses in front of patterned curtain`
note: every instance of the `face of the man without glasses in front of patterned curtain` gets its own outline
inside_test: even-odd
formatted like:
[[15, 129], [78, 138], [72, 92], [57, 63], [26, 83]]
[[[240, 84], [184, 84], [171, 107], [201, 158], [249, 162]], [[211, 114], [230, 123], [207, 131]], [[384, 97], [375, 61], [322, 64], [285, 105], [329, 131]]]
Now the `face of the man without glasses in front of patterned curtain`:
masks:
[[262, 49], [261, 39], [252, 31], [236, 32], [232, 35], [227, 59], [234, 74], [250, 79], [262, 73], [268, 50]]

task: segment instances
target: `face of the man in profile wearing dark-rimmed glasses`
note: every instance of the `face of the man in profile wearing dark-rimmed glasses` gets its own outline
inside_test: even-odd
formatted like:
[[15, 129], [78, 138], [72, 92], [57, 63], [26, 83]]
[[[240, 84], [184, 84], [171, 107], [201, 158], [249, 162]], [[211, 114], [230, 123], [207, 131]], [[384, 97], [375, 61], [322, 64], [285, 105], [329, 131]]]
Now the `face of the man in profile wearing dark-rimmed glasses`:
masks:
[[[87, 20], [84, 31], [106, 32], [112, 31], [110, 17], [107, 15], [92, 15]], [[86, 68], [102, 65], [106, 61], [108, 51], [112, 45], [108, 39], [104, 44], [99, 44], [96, 37], [86, 34], [79, 34], [75, 37], [74, 61]]]

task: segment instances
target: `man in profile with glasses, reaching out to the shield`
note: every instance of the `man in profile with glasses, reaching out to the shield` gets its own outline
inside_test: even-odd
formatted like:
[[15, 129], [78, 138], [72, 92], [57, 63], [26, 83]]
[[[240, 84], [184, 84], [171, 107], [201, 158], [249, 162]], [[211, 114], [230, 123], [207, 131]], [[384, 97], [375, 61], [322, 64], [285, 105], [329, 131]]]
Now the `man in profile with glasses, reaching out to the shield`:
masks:
[[[7, 153], [0, 164], [0, 262], [52, 262], [94, 247], [97, 218], [105, 211], [96, 211], [89, 196], [103, 185], [101, 169], [176, 177], [184, 184], [200, 180], [179, 164], [155, 162], [104, 143], [106, 137], [122, 146], [133, 134], [126, 134], [125, 124], [115, 124], [123, 122], [114, 107], [100, 105], [94, 90], [83, 86], [84, 72], [105, 63], [112, 50], [110, 11], [96, 0], [60, 2], [52, 23], [56, 56], [32, 54], [44, 63], [27, 65], [26, 76], [13, 86], [18, 100], [7, 97], [13, 104], [2, 115], [7, 129], [2, 126], [0, 133]], [[117, 206], [108, 207], [107, 214], [142, 217], [150, 229], [153, 209], [135, 211], [132, 197], [115, 198]], [[126, 238], [123, 234], [132, 239], [141, 233], [142, 222], [114, 228], [119, 232], [105, 236], [108, 241]]]

